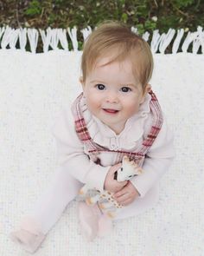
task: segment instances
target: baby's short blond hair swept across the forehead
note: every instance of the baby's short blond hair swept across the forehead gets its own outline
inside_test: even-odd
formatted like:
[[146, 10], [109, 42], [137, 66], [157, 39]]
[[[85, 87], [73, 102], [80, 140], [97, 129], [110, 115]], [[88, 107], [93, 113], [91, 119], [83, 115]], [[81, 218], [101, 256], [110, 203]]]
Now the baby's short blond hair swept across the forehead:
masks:
[[149, 44], [141, 36], [118, 22], [100, 24], [84, 45], [81, 58], [83, 82], [102, 56], [110, 56], [110, 62], [121, 62], [130, 57], [133, 75], [145, 89], [152, 75], [153, 57]]

